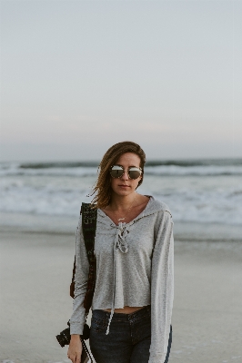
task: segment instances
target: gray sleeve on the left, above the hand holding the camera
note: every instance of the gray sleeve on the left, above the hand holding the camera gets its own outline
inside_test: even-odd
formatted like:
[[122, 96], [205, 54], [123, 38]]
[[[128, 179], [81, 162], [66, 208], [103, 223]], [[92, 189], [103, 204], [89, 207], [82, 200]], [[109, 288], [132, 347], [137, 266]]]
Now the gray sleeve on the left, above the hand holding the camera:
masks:
[[76, 229], [76, 274], [75, 298], [73, 300], [73, 314], [70, 319], [70, 333], [83, 334], [85, 324], [85, 308], [83, 306], [86, 295], [89, 262], [86, 256], [86, 247], [82, 231], [82, 218], [80, 217]]

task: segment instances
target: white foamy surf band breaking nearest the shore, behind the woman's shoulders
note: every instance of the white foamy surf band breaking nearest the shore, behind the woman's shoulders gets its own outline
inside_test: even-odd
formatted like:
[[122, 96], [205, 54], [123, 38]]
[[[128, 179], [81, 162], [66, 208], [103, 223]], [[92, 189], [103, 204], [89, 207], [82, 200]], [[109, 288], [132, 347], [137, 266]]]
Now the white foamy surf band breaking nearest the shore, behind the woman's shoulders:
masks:
[[[165, 201], [172, 211], [174, 221], [225, 224], [241, 224], [242, 221], [242, 193], [239, 188], [212, 191], [189, 188], [160, 192], [144, 190], [142, 193]], [[75, 216], [82, 201], [92, 200], [87, 194], [85, 188], [39, 188], [12, 182], [0, 192], [0, 211]]]

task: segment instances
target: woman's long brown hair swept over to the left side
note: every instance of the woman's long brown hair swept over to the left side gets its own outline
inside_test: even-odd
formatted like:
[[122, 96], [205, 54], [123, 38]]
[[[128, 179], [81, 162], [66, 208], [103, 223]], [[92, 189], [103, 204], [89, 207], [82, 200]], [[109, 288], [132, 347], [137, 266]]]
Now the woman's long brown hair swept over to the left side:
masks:
[[[140, 158], [139, 166], [142, 169], [142, 176], [144, 177], [144, 165], [146, 163], [145, 152], [136, 142], [117, 142], [107, 150], [98, 167], [99, 175], [92, 193], [92, 195], [96, 193], [92, 201], [95, 208], [106, 208], [111, 202], [112, 189], [109, 170], [112, 165], [115, 165], [119, 157], [126, 152], [134, 152]], [[143, 177], [137, 186], [143, 182]]]

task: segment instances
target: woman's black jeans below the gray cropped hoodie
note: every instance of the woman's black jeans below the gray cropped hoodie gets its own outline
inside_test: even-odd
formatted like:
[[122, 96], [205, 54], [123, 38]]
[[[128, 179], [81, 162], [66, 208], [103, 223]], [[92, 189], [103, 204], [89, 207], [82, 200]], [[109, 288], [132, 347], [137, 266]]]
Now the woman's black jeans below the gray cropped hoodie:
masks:
[[[94, 310], [90, 331], [90, 348], [96, 363], [148, 363], [151, 342], [150, 307], [131, 314], [114, 313], [109, 334], [106, 329], [110, 313]], [[172, 327], [166, 353], [168, 362]]]

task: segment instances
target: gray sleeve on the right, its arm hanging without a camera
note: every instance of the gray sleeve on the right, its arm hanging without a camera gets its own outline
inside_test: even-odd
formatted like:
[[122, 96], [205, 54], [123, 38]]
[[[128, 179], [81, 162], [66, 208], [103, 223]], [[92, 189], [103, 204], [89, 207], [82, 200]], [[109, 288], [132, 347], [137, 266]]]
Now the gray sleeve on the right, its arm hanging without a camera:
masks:
[[157, 232], [151, 271], [151, 346], [148, 363], [164, 363], [174, 298], [173, 221], [168, 211]]

